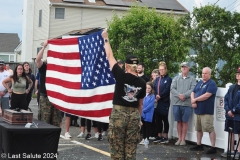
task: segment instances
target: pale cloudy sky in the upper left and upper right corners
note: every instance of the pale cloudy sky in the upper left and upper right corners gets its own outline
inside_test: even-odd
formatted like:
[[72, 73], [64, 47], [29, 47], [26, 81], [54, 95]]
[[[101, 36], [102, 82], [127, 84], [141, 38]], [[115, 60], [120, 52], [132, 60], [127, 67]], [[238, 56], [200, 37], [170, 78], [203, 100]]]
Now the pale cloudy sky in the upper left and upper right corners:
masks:
[[[0, 33], [18, 33], [22, 39], [22, 9], [24, 0], [0, 0]], [[227, 10], [240, 12], [239, 0], [178, 0], [188, 11], [193, 7], [207, 4], [226, 7]], [[231, 5], [232, 4], [232, 5]], [[230, 5], [230, 6], [229, 6]]]

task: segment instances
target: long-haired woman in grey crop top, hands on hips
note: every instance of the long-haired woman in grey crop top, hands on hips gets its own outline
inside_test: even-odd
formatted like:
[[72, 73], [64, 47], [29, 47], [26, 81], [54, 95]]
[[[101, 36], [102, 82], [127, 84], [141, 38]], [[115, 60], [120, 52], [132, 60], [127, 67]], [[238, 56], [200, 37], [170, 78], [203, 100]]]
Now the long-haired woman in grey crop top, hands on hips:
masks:
[[[9, 88], [7, 83], [12, 83], [12, 88]], [[23, 65], [18, 64], [13, 72], [13, 75], [6, 78], [2, 82], [3, 86], [11, 93], [11, 109], [25, 109], [27, 110], [26, 95], [29, 93], [32, 87], [32, 80], [28, 78], [23, 71]], [[28, 88], [26, 89], [26, 86]]]

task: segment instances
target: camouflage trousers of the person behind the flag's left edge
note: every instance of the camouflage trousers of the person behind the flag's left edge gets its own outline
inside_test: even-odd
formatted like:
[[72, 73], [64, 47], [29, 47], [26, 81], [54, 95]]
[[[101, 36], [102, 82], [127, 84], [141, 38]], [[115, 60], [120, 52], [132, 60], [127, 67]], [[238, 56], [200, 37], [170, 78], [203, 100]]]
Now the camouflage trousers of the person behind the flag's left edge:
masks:
[[62, 121], [61, 112], [49, 102], [48, 97], [40, 96], [38, 107], [38, 120], [57, 127], [60, 126]]

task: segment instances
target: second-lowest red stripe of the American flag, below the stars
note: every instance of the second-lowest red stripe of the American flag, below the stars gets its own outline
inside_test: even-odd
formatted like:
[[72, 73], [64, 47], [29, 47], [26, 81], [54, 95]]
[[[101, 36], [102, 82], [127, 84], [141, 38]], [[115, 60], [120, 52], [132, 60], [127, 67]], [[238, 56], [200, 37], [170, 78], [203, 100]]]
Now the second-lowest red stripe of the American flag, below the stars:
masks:
[[113, 99], [113, 93], [106, 93], [101, 95], [89, 96], [89, 97], [72, 97], [61, 94], [59, 92], [47, 91], [47, 95], [50, 97], [54, 97], [56, 99], [60, 99], [67, 103], [75, 103], [75, 104], [88, 104], [88, 103], [99, 103], [106, 102]]

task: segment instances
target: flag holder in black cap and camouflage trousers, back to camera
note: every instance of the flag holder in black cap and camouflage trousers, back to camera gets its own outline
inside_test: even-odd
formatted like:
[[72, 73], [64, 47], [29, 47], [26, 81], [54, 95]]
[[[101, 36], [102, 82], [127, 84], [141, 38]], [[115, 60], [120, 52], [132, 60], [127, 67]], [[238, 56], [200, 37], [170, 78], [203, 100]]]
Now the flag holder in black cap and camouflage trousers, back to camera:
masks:
[[136, 159], [146, 82], [137, 76], [138, 58], [128, 55], [124, 71], [113, 56], [107, 30], [102, 32], [102, 37], [110, 69], [116, 80], [108, 131], [111, 159]]

